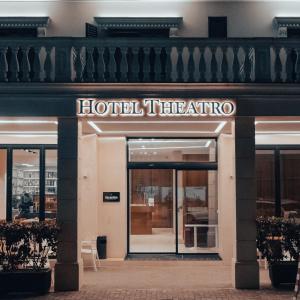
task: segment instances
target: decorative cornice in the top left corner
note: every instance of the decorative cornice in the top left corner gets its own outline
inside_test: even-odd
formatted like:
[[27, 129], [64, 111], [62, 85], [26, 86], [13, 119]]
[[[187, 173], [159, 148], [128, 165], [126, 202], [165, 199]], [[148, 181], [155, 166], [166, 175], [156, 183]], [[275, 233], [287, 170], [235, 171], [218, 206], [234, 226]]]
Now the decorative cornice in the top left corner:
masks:
[[0, 17], [0, 28], [39, 28], [49, 22], [49, 17]]

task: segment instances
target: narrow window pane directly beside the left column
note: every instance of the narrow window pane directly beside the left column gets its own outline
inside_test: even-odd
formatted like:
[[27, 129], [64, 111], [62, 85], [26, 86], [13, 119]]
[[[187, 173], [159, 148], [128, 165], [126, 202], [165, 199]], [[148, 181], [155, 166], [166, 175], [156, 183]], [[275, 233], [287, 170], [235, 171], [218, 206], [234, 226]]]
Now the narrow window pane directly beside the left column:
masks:
[[45, 151], [45, 218], [57, 213], [57, 150]]

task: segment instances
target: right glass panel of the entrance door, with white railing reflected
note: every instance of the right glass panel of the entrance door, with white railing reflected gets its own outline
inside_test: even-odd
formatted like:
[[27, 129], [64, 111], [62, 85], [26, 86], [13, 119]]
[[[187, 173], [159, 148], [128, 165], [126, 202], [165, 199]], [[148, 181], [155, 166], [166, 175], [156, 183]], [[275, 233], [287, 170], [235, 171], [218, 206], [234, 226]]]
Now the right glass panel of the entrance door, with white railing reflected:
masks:
[[178, 253], [216, 253], [216, 171], [177, 172]]

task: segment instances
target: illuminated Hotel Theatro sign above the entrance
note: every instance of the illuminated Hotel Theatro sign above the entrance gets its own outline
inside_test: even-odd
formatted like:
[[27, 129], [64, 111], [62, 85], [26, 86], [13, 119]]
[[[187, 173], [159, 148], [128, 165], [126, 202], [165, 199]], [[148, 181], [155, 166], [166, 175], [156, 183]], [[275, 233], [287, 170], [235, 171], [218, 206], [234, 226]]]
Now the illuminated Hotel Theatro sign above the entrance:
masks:
[[77, 99], [77, 115], [88, 117], [226, 117], [235, 111], [229, 99]]

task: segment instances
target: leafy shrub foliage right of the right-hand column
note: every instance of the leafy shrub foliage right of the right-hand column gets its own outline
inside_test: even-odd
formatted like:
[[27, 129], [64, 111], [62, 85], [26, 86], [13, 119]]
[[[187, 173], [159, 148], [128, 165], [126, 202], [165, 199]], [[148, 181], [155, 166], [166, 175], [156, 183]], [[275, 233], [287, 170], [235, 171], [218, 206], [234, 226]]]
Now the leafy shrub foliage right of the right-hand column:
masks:
[[257, 248], [270, 264], [278, 261], [298, 261], [300, 252], [300, 224], [294, 219], [256, 219]]

